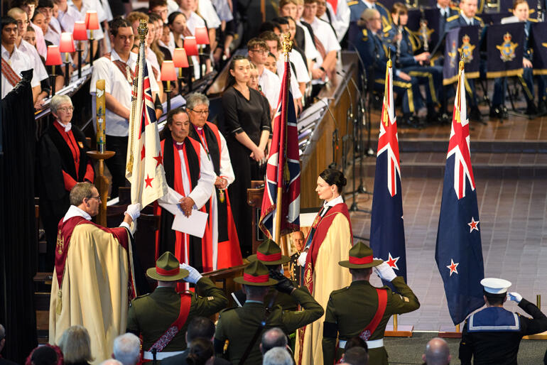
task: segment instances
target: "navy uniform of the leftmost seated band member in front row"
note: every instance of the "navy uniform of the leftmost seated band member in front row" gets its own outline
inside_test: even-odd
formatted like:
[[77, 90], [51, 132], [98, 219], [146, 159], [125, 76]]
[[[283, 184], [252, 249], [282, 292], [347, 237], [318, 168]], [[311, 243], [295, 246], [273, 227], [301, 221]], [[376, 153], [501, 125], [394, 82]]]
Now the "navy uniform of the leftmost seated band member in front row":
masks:
[[[374, 89], [384, 91], [384, 82], [386, 75], [387, 48], [391, 47], [391, 55], [395, 55], [395, 49], [391, 45], [386, 45], [378, 34], [374, 34], [367, 29], [361, 29], [358, 37], [351, 39], [351, 42], [357, 48], [363, 62], [367, 65], [367, 75], [374, 75]], [[374, 67], [372, 67], [374, 65]], [[393, 76], [393, 89], [397, 94], [403, 95], [403, 113], [412, 114], [422, 107], [422, 98], [420, 88], [416, 77], [410, 81], [405, 81], [396, 76], [396, 67]]]

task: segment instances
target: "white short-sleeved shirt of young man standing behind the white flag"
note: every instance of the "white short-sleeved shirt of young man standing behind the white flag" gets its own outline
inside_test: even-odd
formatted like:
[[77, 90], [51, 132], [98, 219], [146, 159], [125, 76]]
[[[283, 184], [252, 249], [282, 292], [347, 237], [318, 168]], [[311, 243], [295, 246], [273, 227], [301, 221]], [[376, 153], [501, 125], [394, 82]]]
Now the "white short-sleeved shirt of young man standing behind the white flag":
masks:
[[[135, 70], [137, 57], [136, 53], [129, 53], [129, 60], [126, 63], [131, 70]], [[112, 50], [110, 58], [109, 60], [106, 57], [102, 57], [94, 61], [90, 93], [97, 91], [97, 80], [105, 80], [104, 91], [111, 94], [121, 105], [131, 110], [131, 84], [127, 80], [126, 75], [123, 75], [117, 65], [114, 65], [115, 60], [121, 59], [115, 50]], [[158, 92], [158, 83], [155, 77], [153, 77], [151, 65], [147, 64], [146, 66], [148, 67], [148, 75], [152, 75], [152, 77], [149, 77], [151, 91]], [[128, 136], [129, 121], [127, 119], [122, 118], [107, 108], [106, 121], [107, 136]]]

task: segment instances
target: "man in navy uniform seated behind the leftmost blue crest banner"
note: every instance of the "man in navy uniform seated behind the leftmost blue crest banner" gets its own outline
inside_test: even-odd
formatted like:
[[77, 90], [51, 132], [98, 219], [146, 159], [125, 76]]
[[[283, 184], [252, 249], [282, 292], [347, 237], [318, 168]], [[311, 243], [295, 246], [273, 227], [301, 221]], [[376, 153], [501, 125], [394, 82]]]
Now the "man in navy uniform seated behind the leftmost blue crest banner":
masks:
[[[484, 33], [484, 22], [477, 14], [477, 0], [462, 0], [460, 2], [460, 14], [446, 19], [445, 32], [462, 26], [480, 26], [480, 39]], [[480, 43], [481, 40], [479, 40]], [[481, 65], [482, 66], [482, 65]], [[481, 67], [482, 68], [482, 67]], [[473, 121], [482, 121], [478, 107], [477, 92], [475, 91], [475, 80], [465, 80], [465, 91], [467, 92], [467, 101], [470, 104], [469, 117]]]

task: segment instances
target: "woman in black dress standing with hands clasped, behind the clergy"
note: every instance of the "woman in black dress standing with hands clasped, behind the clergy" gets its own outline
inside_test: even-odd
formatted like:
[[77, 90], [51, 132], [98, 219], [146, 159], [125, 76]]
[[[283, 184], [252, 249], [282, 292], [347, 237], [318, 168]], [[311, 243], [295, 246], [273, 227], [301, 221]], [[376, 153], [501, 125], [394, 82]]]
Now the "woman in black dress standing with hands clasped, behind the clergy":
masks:
[[264, 105], [260, 92], [247, 86], [250, 71], [247, 58], [232, 58], [222, 94], [226, 142], [235, 175], [228, 192], [244, 257], [252, 253], [252, 209], [247, 204], [247, 189], [251, 180], [264, 180], [271, 131], [269, 107]]

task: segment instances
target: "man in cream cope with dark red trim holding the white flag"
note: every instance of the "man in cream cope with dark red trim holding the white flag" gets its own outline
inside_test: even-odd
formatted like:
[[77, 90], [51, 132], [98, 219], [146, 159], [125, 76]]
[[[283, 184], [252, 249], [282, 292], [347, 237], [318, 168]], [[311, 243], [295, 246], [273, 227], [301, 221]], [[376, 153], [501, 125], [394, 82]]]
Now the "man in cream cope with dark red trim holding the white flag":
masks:
[[91, 222], [101, 204], [93, 184], [78, 182], [70, 204], [55, 246], [49, 341], [55, 344], [65, 329], [82, 325], [89, 329], [91, 353], [101, 361], [111, 357], [114, 338], [125, 331], [129, 299], [137, 295], [130, 224], [141, 206], [129, 205], [120, 227], [106, 228]]

